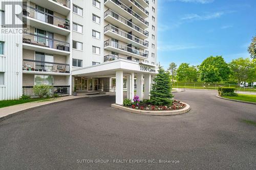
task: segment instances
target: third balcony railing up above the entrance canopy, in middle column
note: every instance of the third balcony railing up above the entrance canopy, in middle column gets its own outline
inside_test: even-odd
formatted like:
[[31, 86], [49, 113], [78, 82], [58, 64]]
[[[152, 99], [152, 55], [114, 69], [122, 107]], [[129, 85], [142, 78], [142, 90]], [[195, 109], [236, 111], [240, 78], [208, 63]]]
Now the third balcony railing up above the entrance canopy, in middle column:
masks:
[[148, 42], [146, 42], [146, 41], [144, 41], [144, 40], [142, 40], [142, 39], [140, 39], [140, 38], [137, 38], [137, 37], [135, 37], [135, 36], [132, 35], [132, 34], [128, 34], [128, 33], [126, 33], [126, 32], [124, 32], [124, 31], [118, 29], [117, 27], [115, 27], [115, 26], [113, 26], [113, 25], [106, 25], [106, 26], [104, 27], [104, 33], [105, 33], [106, 31], [114, 32], [114, 33], [116, 33], [116, 34], [121, 35], [122, 37], [131, 39], [131, 40], [133, 40], [133, 41], [135, 41], [135, 42], [137, 42], [137, 43], [139, 43], [139, 44], [141, 44], [141, 45], [144, 45], [144, 46], [147, 46], [147, 47], [148, 47]]

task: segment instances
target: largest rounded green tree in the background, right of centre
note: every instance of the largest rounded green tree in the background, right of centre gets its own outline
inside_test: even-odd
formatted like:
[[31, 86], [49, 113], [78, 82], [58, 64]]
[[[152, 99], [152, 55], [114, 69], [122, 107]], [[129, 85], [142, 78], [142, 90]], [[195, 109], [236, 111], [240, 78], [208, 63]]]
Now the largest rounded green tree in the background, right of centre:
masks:
[[[214, 66], [214, 67], [210, 67], [210, 66]], [[212, 78], [207, 78], [205, 77], [206, 75], [210, 75], [209, 73], [211, 72], [211, 74], [213, 72], [217, 72], [217, 70], [214, 71], [210, 71], [209, 69], [206, 68], [214, 68], [218, 70], [218, 75], [216, 78], [212, 79]], [[219, 81], [226, 81], [229, 79], [229, 75], [230, 75], [230, 68], [228, 67], [228, 64], [225, 62], [225, 60], [223, 59], [222, 56], [210, 56], [208, 58], [206, 58], [200, 65], [199, 67], [200, 70], [200, 75], [201, 75], [201, 80], [219, 80]], [[204, 70], [208, 70], [210, 72], [204, 72]], [[212, 81], [209, 81], [212, 82]], [[216, 81], [214, 81], [216, 82]]]

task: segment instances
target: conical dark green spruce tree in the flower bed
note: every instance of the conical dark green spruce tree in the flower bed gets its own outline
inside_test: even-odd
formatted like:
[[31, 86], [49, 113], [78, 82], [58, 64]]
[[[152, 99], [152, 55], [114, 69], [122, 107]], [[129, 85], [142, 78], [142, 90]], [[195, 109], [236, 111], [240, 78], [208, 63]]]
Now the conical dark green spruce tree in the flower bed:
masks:
[[173, 103], [172, 84], [168, 72], [160, 66], [151, 90], [151, 103], [156, 106], [171, 106]]

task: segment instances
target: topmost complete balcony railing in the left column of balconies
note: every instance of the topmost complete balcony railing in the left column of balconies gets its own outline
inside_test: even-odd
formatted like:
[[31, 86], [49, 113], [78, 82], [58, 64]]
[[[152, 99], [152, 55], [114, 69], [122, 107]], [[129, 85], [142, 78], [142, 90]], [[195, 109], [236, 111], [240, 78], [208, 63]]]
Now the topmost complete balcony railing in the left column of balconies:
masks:
[[35, 9], [33, 7], [24, 5], [23, 6], [23, 15], [37, 19], [39, 22], [46, 22], [51, 25], [70, 30], [70, 21], [69, 20], [48, 14], [46, 12]]

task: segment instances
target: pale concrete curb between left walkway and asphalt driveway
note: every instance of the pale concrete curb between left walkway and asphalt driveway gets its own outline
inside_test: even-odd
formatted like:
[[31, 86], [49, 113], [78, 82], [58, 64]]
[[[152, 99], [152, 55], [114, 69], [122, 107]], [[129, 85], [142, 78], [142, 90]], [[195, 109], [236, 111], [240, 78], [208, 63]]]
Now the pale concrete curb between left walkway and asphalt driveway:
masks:
[[[52, 103], [44, 103], [42, 105], [39, 105], [39, 106], [32, 106], [32, 107], [29, 107], [27, 109], [23, 109], [23, 110], [19, 110], [17, 112], [13, 112], [13, 113], [10, 113], [10, 114], [7, 114], [3, 117], [0, 117], [0, 122], [3, 122], [4, 120], [10, 118], [10, 117], [13, 117], [15, 115], [18, 115], [19, 113], [22, 113], [24, 111], [29, 111], [29, 110], [32, 110], [32, 109], [35, 109], [35, 108], [38, 108], [38, 107], [41, 107], [41, 106], [45, 106], [45, 105], [53, 105], [55, 103], [58, 103], [58, 102], [66, 102], [66, 101], [70, 101], [70, 100], [75, 100], [75, 99], [81, 99], [81, 98], [88, 98], [88, 96], [81, 96], [79, 98], [74, 98], [74, 99], [67, 99], [67, 100], [61, 100], [61, 101], [54, 101]], [[42, 101], [35, 101], [35, 102], [42, 102]], [[30, 102], [30, 103], [33, 103], [33, 102]], [[26, 104], [26, 103], [25, 103]], [[14, 105], [15, 106], [15, 105]], [[17, 105], [16, 105], [17, 106]], [[9, 106], [8, 106], [9, 107]]]

